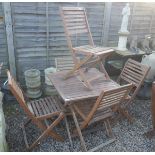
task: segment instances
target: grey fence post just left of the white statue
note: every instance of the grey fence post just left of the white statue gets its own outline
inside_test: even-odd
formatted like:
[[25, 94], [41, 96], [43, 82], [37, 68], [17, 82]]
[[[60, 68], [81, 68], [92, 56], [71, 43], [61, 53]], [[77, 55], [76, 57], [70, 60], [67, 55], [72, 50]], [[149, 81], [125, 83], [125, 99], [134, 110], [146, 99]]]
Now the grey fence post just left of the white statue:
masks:
[[102, 31], [103, 37], [101, 38], [101, 44], [103, 46], [107, 46], [107, 43], [108, 43], [111, 8], [112, 8], [112, 2], [105, 2], [104, 19], [103, 19], [103, 27], [104, 28]]

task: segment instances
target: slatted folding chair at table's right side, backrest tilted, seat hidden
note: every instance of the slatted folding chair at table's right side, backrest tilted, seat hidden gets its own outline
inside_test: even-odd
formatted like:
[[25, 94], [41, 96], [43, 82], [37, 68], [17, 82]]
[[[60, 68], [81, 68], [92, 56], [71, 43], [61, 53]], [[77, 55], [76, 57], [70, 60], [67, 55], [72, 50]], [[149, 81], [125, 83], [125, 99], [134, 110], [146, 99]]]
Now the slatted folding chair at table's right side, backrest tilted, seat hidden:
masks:
[[121, 109], [119, 109], [120, 112], [129, 119], [129, 121], [132, 121], [132, 117], [126, 110], [126, 106], [131, 103], [137, 95], [149, 70], [149, 66], [141, 64], [135, 60], [128, 59], [120, 76], [117, 79], [117, 83], [121, 85], [124, 83], [132, 83], [134, 86], [129, 96], [126, 98], [126, 102], [124, 102]]

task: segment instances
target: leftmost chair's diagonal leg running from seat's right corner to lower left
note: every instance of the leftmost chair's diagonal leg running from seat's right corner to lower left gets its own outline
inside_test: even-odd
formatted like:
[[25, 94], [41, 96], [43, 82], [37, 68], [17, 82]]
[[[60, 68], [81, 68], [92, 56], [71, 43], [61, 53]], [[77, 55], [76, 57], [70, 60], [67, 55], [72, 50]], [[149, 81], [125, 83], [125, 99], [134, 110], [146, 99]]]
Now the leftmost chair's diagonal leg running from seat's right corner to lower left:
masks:
[[28, 150], [32, 150], [41, 139], [43, 139], [47, 134], [51, 132], [51, 130], [58, 125], [58, 123], [64, 118], [64, 114], [60, 114], [59, 117], [48, 127], [44, 132], [39, 136], [39, 138], [32, 143], [32, 145], [28, 148]]

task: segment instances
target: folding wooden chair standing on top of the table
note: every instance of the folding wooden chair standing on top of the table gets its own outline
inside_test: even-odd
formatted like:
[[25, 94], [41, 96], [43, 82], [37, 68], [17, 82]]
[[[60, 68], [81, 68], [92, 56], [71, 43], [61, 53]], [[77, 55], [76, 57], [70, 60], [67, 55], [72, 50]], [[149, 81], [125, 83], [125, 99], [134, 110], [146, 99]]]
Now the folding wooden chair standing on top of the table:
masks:
[[[91, 89], [90, 82], [92, 80], [88, 80], [85, 77], [84, 71], [87, 71], [83, 68], [90, 68], [95, 66], [96, 64], [99, 64], [100, 70], [104, 72], [107, 79], [109, 79], [109, 75], [107, 74], [102, 61], [107, 56], [109, 56], [114, 50], [110, 48], [105, 47], [98, 47], [94, 45], [93, 38], [90, 32], [90, 28], [88, 25], [88, 20], [86, 16], [86, 11], [82, 7], [62, 7], [60, 8], [61, 17], [64, 24], [65, 34], [67, 37], [68, 46], [72, 52], [73, 61], [75, 66], [71, 71], [68, 72], [68, 74], [65, 76], [65, 78], [70, 77], [72, 74], [74, 74], [76, 71], [78, 71], [81, 80], [84, 82], [83, 84]], [[79, 46], [79, 47], [73, 47], [73, 36], [87, 34], [89, 39], [89, 45]], [[84, 58], [81, 59], [81, 61], [77, 60], [77, 55], [81, 54]], [[92, 78], [95, 80], [96, 78], [99, 78], [98, 76], [94, 76]]]

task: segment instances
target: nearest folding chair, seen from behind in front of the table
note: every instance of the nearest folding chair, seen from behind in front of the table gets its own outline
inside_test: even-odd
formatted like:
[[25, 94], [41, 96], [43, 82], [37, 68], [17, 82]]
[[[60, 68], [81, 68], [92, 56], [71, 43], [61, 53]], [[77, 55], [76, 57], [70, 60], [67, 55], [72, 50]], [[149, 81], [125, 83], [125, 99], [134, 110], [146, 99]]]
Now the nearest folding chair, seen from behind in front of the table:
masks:
[[[103, 146], [114, 142], [115, 138], [112, 134], [112, 129], [110, 126], [109, 118], [113, 116], [112, 107], [119, 105], [124, 99], [128, 96], [132, 88], [132, 84], [125, 86], [120, 86], [119, 88], [102, 91], [100, 96], [97, 98], [96, 102], [93, 104], [90, 103], [81, 103], [72, 106], [72, 114], [76, 122], [76, 128], [78, 135], [80, 136], [81, 145], [84, 151], [87, 151], [85, 142], [81, 133], [81, 130], [84, 130], [87, 126], [92, 123], [103, 120], [106, 127], [107, 135], [112, 137], [109, 141], [91, 149], [90, 151], [96, 151]], [[76, 115], [80, 118], [76, 118]]]

